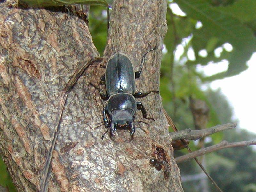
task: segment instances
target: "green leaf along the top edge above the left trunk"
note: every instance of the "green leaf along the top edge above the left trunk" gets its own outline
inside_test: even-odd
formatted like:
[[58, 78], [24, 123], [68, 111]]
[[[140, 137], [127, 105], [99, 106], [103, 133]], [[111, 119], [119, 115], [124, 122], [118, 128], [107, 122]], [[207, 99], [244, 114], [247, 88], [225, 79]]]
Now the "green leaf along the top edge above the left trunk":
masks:
[[105, 0], [19, 0], [19, 4], [25, 7], [56, 7], [63, 5], [94, 5], [108, 7], [108, 3]]

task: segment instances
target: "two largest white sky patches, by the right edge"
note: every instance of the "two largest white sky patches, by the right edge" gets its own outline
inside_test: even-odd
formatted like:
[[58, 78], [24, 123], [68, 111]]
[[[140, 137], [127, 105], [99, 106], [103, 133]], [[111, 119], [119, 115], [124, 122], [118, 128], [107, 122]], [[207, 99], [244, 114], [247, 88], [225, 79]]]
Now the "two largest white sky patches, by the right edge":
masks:
[[[210, 86], [212, 89], [220, 88], [227, 96], [231, 106], [234, 108], [234, 119], [239, 120], [241, 128], [256, 133], [256, 53], [247, 62], [249, 68], [239, 75], [213, 81]], [[199, 67], [206, 75], [213, 75], [223, 71], [227, 65], [223, 63], [209, 64]], [[253, 88], [254, 87], [254, 88]]]

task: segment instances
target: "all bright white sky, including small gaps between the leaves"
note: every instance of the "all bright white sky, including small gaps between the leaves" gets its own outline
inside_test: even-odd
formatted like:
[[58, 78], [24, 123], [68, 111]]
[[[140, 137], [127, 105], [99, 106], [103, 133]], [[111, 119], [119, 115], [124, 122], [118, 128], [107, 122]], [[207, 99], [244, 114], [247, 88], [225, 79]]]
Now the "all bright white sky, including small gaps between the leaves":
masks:
[[[176, 15], [186, 16], [186, 13], [182, 12], [176, 3], [172, 3], [169, 0], [169, 7]], [[197, 22], [196, 28], [202, 27], [202, 23]], [[184, 39], [182, 44], [189, 41], [191, 37]], [[228, 43], [223, 44], [222, 48], [215, 49], [215, 55], [218, 56], [223, 49], [232, 51], [232, 46]], [[184, 51], [182, 45], [178, 45], [175, 57], [179, 57]], [[163, 50], [164, 52], [164, 50]], [[201, 50], [199, 53], [201, 56], [206, 57], [207, 51]], [[193, 50], [188, 51], [188, 58], [194, 59]], [[213, 81], [210, 86], [212, 89], [220, 88], [221, 91], [227, 96], [231, 106], [234, 109], [234, 120], [239, 120], [239, 127], [247, 129], [256, 133], [255, 120], [256, 118], [256, 53], [254, 53], [251, 59], [247, 62], [249, 68], [240, 73], [239, 75], [228, 77], [222, 80]], [[208, 64], [207, 66], [198, 66], [199, 71], [203, 71], [205, 75], [210, 76], [221, 71], [226, 71], [228, 68], [228, 62], [221, 62], [218, 64]], [[253, 88], [254, 87], [254, 88]]]

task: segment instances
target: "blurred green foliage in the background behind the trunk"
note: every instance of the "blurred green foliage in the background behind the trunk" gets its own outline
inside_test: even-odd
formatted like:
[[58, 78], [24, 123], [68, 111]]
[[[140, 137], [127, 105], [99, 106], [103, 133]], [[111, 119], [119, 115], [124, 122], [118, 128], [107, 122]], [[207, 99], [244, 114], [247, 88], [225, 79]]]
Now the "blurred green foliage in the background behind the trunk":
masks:
[[[111, 5], [112, 1], [108, 1], [108, 4]], [[173, 4], [177, 4], [185, 16], [175, 14], [171, 6], [167, 10], [168, 31], [164, 39], [166, 50], [163, 51], [160, 77], [163, 106], [180, 130], [193, 129], [194, 126], [189, 97], [204, 100], [209, 106], [207, 127], [232, 122], [232, 108], [227, 98], [220, 90], [211, 90], [209, 83], [247, 69], [246, 62], [256, 51], [256, 1], [169, 0], [169, 5]], [[93, 43], [103, 55], [107, 39], [105, 8], [90, 8], [89, 28]], [[225, 47], [227, 43], [231, 49]], [[207, 54], [200, 54], [202, 50]], [[206, 76], [198, 70], [199, 66], [212, 62], [223, 65], [223, 60], [229, 63], [226, 71]], [[212, 135], [206, 145], [223, 139], [236, 142], [255, 139], [255, 135], [237, 128]], [[198, 149], [196, 142], [190, 142], [190, 147], [192, 150]], [[187, 153], [185, 149], [176, 151], [175, 156], [184, 153]], [[256, 191], [255, 159], [256, 152], [252, 147], [224, 149], [206, 156], [207, 171], [223, 191], [253, 192]], [[0, 166], [3, 167], [2, 162]], [[179, 164], [179, 167], [182, 176], [193, 177], [201, 173], [194, 161]], [[6, 175], [2, 171], [0, 174]], [[0, 180], [0, 185], [4, 185], [3, 180]], [[183, 182], [184, 191], [200, 191], [198, 186], [199, 180], [196, 179]], [[216, 191], [210, 182], [209, 187], [211, 191]]]

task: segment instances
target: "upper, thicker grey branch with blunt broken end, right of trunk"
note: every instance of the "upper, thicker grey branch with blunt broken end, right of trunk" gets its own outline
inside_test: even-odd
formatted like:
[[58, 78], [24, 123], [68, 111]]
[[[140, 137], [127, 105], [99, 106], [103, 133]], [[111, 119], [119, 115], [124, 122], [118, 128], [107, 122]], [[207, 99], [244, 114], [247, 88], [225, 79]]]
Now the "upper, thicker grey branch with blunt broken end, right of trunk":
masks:
[[172, 138], [172, 140], [178, 140], [178, 139], [197, 140], [205, 136], [211, 135], [213, 133], [224, 131], [227, 129], [233, 129], [235, 127], [236, 127], [236, 123], [227, 123], [223, 125], [217, 125], [215, 127], [211, 127], [208, 129], [201, 129], [201, 130], [186, 129], [178, 132], [172, 132], [170, 133], [170, 137]]

